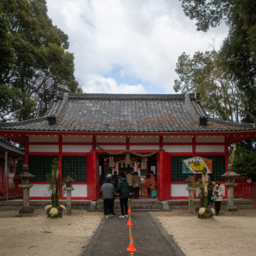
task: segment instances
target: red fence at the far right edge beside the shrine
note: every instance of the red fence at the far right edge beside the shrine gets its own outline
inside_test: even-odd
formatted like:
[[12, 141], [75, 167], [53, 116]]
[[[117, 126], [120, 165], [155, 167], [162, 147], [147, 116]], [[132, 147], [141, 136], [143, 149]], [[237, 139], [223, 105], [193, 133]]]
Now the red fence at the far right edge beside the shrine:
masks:
[[247, 176], [235, 179], [237, 186], [234, 188], [234, 196], [244, 199], [255, 200], [256, 204], [256, 182], [247, 182]]

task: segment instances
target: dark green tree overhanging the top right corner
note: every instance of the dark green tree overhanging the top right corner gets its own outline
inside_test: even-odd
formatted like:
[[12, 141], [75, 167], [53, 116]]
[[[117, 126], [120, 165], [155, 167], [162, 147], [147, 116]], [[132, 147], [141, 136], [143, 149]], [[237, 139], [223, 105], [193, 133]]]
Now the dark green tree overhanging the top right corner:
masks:
[[220, 51], [223, 65], [243, 92], [244, 122], [256, 122], [256, 1], [181, 2], [184, 13], [197, 21], [197, 30], [227, 24], [228, 35]]

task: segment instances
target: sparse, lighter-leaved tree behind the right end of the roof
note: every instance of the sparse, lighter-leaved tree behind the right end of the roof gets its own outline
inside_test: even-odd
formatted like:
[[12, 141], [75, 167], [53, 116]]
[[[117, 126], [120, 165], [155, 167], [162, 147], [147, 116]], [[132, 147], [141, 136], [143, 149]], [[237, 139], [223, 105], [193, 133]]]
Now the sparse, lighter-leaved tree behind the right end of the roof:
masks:
[[175, 92], [200, 92], [202, 104], [210, 116], [241, 121], [241, 91], [223, 69], [218, 52], [195, 52], [192, 58], [183, 52], [175, 71], [179, 75], [174, 81]]

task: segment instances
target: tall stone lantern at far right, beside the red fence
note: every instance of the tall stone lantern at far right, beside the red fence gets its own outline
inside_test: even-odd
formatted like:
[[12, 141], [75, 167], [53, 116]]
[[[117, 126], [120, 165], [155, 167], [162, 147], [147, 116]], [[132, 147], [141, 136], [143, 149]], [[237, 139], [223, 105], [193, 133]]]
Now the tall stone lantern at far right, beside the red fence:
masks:
[[227, 183], [225, 186], [228, 188], [228, 211], [236, 211], [237, 208], [234, 205], [234, 187], [237, 186], [235, 183], [235, 177], [239, 177], [240, 175], [236, 172], [232, 172], [233, 166], [232, 164], [228, 164], [228, 172], [221, 175], [222, 177], [227, 178]]

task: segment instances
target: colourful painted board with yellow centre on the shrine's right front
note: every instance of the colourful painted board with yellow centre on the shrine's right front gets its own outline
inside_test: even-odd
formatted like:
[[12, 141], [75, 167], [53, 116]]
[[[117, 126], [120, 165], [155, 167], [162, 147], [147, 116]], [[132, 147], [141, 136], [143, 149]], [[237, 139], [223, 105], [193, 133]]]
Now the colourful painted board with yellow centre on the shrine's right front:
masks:
[[182, 173], [202, 173], [204, 168], [212, 173], [212, 159], [196, 156], [182, 161]]

